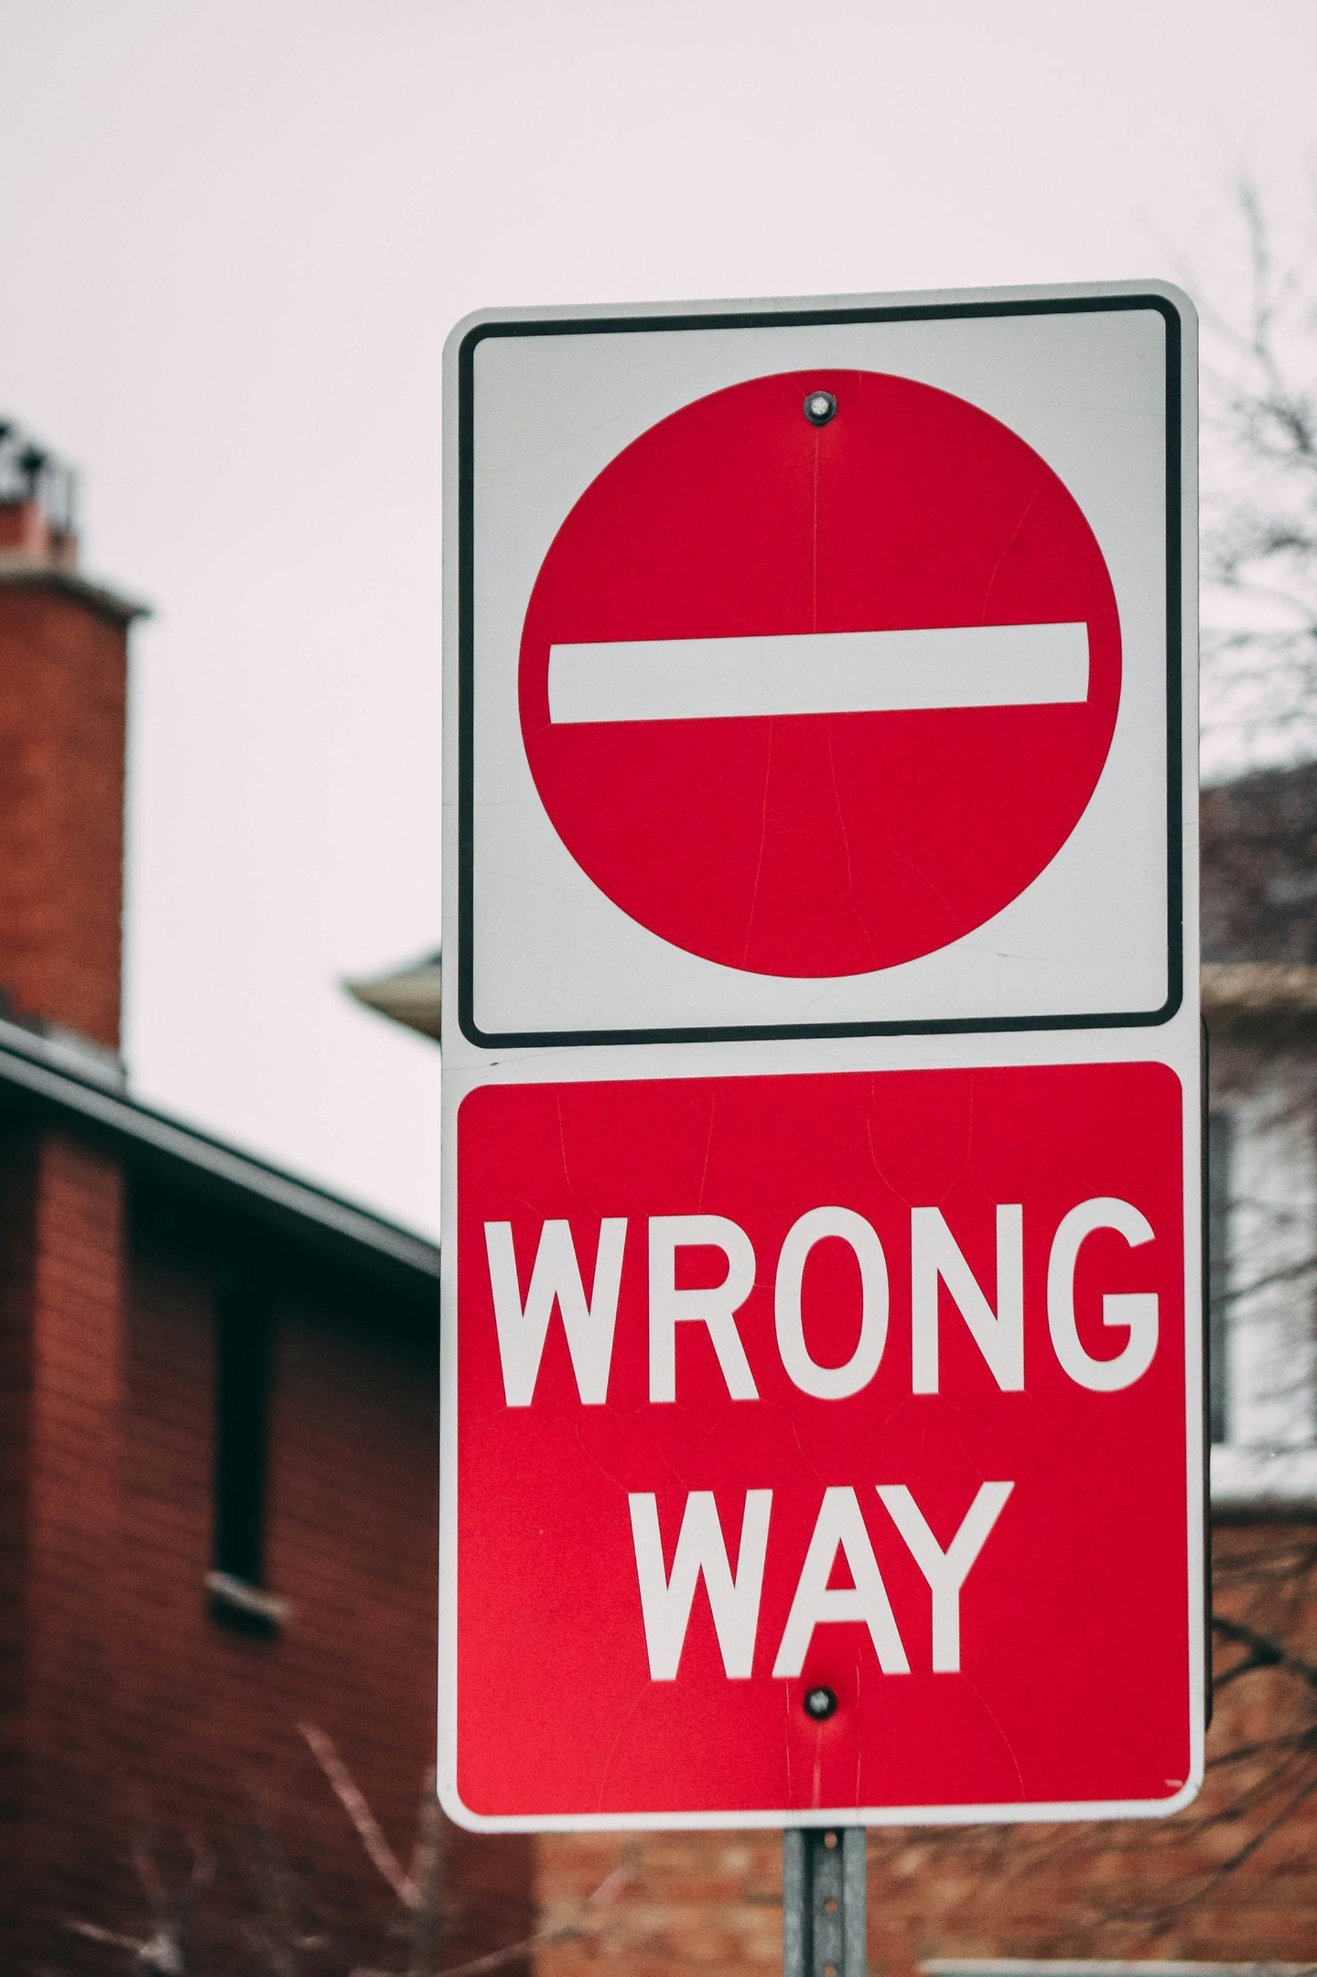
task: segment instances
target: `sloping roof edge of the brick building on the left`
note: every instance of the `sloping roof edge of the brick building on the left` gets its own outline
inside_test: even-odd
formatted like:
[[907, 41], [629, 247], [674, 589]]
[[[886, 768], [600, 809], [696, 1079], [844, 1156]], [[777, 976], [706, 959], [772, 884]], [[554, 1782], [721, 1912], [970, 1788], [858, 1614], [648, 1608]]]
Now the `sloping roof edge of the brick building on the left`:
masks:
[[138, 1103], [95, 1056], [4, 1018], [0, 1093], [111, 1141], [138, 1168], [168, 1174], [344, 1261], [384, 1269], [411, 1289], [437, 1289], [437, 1244]]

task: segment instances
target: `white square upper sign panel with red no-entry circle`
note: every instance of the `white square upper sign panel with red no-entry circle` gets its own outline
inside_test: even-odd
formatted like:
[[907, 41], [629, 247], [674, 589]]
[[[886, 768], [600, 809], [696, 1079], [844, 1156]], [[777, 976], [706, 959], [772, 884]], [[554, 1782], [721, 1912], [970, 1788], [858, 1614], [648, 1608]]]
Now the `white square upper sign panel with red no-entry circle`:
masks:
[[1165, 1020], [1173, 299], [494, 318], [453, 368], [467, 1040]]

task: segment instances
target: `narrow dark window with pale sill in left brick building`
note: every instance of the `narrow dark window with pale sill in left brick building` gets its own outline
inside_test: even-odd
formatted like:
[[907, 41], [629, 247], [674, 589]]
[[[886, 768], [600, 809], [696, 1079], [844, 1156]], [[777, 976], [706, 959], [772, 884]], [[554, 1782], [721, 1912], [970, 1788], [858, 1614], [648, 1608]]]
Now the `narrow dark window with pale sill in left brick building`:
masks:
[[214, 1524], [210, 1605], [249, 1633], [279, 1629], [265, 1586], [273, 1311], [253, 1273], [216, 1289]]

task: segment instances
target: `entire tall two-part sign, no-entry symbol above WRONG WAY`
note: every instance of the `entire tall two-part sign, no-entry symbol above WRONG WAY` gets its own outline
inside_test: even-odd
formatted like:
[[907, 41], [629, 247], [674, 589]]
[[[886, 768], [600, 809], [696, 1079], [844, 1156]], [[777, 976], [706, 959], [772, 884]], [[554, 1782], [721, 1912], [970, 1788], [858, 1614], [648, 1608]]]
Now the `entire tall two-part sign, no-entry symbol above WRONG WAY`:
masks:
[[1192, 314], [449, 346], [441, 1795], [1202, 1763]]

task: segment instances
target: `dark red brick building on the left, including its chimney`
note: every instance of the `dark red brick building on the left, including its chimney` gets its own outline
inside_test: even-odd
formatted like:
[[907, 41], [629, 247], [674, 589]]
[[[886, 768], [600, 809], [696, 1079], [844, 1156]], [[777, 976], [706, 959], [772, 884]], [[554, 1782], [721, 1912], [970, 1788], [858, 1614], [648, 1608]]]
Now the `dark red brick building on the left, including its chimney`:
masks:
[[425, 1811], [437, 1251], [125, 1085], [67, 492], [0, 439], [0, 1969], [463, 1963], [530, 1860]]

